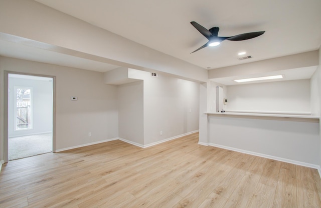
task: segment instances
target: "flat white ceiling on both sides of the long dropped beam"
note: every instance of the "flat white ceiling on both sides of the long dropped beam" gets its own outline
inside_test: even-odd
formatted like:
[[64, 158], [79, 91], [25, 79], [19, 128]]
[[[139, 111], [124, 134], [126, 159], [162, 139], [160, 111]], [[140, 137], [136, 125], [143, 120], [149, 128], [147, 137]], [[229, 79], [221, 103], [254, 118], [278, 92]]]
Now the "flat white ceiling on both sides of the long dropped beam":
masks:
[[[36, 1], [208, 69], [316, 50], [321, 44], [321, 0]], [[253, 39], [225, 40], [217, 47], [190, 53], [207, 42], [190, 21], [206, 28], [219, 26], [219, 36], [266, 32]], [[239, 60], [239, 51], [246, 51], [246, 55], [253, 58]], [[120, 66], [110, 64], [102, 57], [91, 58], [90, 54], [76, 57], [72, 52], [59, 53], [1, 39], [1, 35], [0, 55], [101, 72]], [[294, 76], [299, 77], [297, 73], [298, 70]], [[220, 81], [227, 83], [230, 80]]]

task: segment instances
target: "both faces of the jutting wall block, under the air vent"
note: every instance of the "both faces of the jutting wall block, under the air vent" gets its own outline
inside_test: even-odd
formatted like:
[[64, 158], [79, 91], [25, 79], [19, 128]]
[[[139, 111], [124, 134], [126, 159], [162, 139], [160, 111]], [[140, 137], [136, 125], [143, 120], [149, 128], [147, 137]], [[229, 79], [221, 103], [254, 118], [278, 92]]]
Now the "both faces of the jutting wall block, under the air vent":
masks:
[[118, 87], [119, 137], [149, 146], [199, 129], [198, 82], [135, 69], [129, 76], [141, 81]]

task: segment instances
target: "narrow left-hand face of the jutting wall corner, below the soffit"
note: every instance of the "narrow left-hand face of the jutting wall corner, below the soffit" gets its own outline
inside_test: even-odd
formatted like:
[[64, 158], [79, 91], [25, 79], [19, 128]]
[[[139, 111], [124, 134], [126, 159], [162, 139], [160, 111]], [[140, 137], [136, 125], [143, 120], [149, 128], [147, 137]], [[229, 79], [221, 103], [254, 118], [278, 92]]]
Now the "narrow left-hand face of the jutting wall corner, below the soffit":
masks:
[[119, 137], [144, 144], [143, 81], [118, 85]]

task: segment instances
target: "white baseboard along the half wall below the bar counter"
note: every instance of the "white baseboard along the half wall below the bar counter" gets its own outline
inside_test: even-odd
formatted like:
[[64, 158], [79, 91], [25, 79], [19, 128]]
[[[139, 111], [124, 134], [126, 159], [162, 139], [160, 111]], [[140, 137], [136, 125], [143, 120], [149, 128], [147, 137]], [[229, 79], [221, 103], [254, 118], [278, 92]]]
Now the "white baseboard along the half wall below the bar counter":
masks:
[[224, 145], [220, 145], [220, 144], [216, 144], [216, 143], [199, 142], [199, 144], [205, 145], [205, 146], [215, 146], [215, 147], [219, 147], [219, 148], [223, 148], [223, 149], [228, 149], [228, 150], [232, 150], [232, 151], [238, 151], [238, 152], [245, 153], [245, 154], [251, 154], [251, 155], [254, 155], [254, 156], [265, 157], [265, 158], [268, 158], [268, 159], [274, 159], [274, 160], [287, 162], [287, 163], [291, 163], [291, 164], [297, 164], [297, 165], [301, 165], [301, 166], [305, 166], [305, 167], [312, 167], [312, 168], [315, 168], [315, 169], [318, 170], [319, 176], [321, 178], [321, 167], [320, 167], [320, 165], [317, 165], [317, 164], [311, 164], [311, 163], [307, 163], [307, 162], [301, 162], [301, 161], [296, 161], [296, 160], [292, 160], [292, 159], [286, 159], [286, 158], [283, 158], [283, 157], [277, 157], [277, 156], [272, 156], [272, 155], [268, 155], [268, 154], [262, 154], [262, 153], [258, 153], [258, 152], [254, 152], [254, 151], [248, 151], [248, 150], [244, 150], [244, 149], [238, 149], [238, 148], [234, 148], [234, 147], [230, 147], [230, 146], [224, 146]]

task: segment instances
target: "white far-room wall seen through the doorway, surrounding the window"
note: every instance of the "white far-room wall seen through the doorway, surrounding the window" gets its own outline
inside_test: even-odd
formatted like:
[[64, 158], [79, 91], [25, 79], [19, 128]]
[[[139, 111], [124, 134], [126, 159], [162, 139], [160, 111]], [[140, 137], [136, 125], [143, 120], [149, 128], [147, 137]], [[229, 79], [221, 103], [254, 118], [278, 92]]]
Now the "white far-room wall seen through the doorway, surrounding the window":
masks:
[[[32, 87], [32, 129], [15, 130], [15, 86]], [[52, 132], [53, 82], [25, 78], [9, 78], [9, 137]]]

